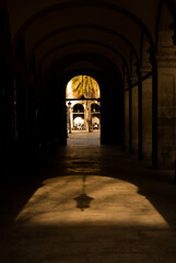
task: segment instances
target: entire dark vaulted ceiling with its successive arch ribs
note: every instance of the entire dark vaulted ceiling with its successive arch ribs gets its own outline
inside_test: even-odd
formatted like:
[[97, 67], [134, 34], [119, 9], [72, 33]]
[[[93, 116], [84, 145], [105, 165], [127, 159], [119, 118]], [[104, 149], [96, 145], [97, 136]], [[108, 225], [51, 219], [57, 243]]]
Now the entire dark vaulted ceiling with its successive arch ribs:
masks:
[[143, 35], [145, 46], [154, 48], [160, 4], [160, 0], [7, 0], [14, 53], [23, 37], [26, 60], [33, 60], [36, 70], [45, 72], [69, 56], [74, 57], [71, 67], [96, 68], [95, 61], [81, 55], [79, 62], [72, 55], [97, 54], [122, 75], [131, 57], [139, 61]]

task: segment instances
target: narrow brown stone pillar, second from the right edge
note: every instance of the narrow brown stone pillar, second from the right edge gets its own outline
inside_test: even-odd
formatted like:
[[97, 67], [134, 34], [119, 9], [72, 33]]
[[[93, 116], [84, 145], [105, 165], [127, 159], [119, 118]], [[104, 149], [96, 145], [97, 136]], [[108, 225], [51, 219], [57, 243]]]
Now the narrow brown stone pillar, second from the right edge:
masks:
[[[156, 125], [154, 123], [155, 112], [157, 112], [157, 105], [154, 111], [154, 92], [157, 91], [154, 87], [156, 83], [156, 78], [153, 78], [155, 75], [155, 65], [154, 65], [154, 56], [153, 48], [151, 47], [151, 43], [149, 42], [148, 36], [143, 33], [141, 38], [141, 57], [140, 57], [140, 71], [142, 78], [142, 158], [150, 160], [151, 165], [156, 160]], [[152, 75], [153, 72], [153, 75]], [[156, 164], [156, 163], [155, 163]]]

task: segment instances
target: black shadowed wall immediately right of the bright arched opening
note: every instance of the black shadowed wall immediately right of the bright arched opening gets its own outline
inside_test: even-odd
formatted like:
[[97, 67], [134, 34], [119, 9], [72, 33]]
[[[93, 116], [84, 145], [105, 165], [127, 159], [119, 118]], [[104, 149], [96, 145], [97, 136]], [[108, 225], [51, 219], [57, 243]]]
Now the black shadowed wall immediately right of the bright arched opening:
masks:
[[[109, 89], [109, 87], [112, 89]], [[118, 88], [118, 89], [117, 89]], [[104, 80], [101, 92], [101, 144], [124, 147], [124, 85], [113, 75]]]

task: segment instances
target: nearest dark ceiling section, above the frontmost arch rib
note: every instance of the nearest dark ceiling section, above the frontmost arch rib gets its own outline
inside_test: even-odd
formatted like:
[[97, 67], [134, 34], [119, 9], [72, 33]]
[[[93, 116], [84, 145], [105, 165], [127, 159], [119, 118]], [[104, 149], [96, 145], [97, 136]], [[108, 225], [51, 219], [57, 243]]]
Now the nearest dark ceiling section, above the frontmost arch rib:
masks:
[[[97, 18], [99, 16], [99, 13], [96, 9], [101, 9], [101, 15], [103, 13], [103, 10], [105, 9], [106, 11], [119, 11], [121, 13], [125, 13], [126, 15], [130, 15], [131, 18], [133, 16], [138, 21], [141, 21], [141, 23], [143, 23], [150, 31], [150, 33], [154, 36], [154, 27], [156, 26], [155, 18], [157, 16], [160, 0], [7, 0], [7, 3], [9, 8], [13, 36], [17, 33], [17, 31], [21, 28], [22, 25], [24, 25], [26, 21], [32, 19], [32, 16], [43, 16], [47, 13], [54, 12], [54, 10], [55, 12], [62, 12], [67, 9], [68, 12], [68, 10], [72, 8], [87, 9], [87, 7], [95, 10]], [[73, 12], [71, 11], [71, 13]], [[17, 14], [17, 16], [15, 14]], [[68, 16], [64, 16], [64, 19], [66, 18]], [[92, 19], [92, 15], [91, 18], [89, 18], [89, 21], [90, 19]], [[108, 23], [107, 20], [105, 22]]]

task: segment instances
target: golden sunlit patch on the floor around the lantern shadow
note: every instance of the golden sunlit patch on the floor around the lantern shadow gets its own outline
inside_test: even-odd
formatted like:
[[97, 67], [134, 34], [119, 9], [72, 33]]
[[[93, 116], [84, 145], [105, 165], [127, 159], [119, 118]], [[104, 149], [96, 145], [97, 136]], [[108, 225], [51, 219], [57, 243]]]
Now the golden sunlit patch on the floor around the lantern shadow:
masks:
[[[75, 198], [91, 198], [78, 209]], [[15, 219], [34, 226], [116, 225], [167, 228], [168, 225], [138, 187], [105, 176], [60, 176], [43, 182]]]

